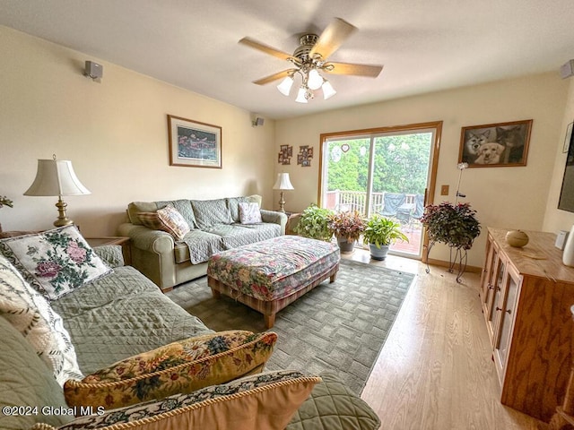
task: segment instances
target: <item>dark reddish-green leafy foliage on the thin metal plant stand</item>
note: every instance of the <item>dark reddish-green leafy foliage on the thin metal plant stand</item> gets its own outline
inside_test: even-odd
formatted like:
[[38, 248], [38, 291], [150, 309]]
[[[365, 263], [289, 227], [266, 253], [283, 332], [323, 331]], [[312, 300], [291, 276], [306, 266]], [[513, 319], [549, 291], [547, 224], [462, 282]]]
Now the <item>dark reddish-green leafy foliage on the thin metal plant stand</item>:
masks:
[[431, 242], [455, 248], [470, 249], [481, 233], [476, 211], [470, 208], [469, 203], [429, 204], [424, 208], [421, 222], [427, 228]]

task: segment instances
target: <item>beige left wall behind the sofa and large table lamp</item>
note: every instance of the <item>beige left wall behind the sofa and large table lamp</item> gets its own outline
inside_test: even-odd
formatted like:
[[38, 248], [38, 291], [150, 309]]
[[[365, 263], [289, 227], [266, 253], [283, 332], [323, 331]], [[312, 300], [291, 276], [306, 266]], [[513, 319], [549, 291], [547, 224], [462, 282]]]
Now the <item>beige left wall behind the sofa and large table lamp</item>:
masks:
[[[28, 197], [37, 159], [70, 159], [90, 195], [65, 198], [85, 236], [116, 234], [128, 202], [261, 193], [271, 207], [274, 121], [0, 26], [4, 230], [50, 228], [54, 197]], [[83, 76], [103, 64], [101, 83]], [[170, 167], [167, 115], [222, 126], [223, 168]]]

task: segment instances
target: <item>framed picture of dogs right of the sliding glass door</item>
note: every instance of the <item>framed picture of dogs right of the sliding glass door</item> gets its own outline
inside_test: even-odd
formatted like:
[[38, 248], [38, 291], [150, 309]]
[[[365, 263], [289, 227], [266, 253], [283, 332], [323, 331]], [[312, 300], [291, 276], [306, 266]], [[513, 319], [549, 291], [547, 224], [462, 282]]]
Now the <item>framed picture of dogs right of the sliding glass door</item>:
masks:
[[526, 166], [531, 129], [532, 119], [463, 127], [458, 162], [469, 168]]

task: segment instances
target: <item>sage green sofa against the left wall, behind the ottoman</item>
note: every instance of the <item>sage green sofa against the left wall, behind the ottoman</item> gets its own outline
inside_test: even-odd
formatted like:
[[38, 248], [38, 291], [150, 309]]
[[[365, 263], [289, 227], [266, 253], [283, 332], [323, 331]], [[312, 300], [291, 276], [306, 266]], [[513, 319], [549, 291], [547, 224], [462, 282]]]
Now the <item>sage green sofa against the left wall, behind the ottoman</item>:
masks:
[[[204, 276], [210, 254], [239, 245], [248, 245], [285, 234], [287, 216], [260, 210], [261, 223], [240, 222], [239, 203], [257, 202], [261, 196], [228, 197], [214, 200], [131, 202], [127, 220], [118, 228], [120, 236], [130, 237], [132, 264], [162, 291]], [[173, 206], [191, 231], [178, 240], [160, 229], [143, 226], [140, 212], [154, 212]]]

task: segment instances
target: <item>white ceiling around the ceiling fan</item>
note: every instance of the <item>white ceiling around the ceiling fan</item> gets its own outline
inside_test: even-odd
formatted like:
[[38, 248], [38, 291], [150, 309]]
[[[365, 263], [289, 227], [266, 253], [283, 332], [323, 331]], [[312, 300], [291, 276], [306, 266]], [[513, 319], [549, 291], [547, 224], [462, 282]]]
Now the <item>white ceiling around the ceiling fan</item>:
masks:
[[[559, 73], [574, 58], [573, 6], [572, 0], [0, 0], [0, 24], [81, 51], [86, 60], [284, 118]], [[290, 64], [239, 39], [291, 53], [300, 33], [320, 34], [334, 17], [359, 30], [329, 59], [384, 64], [378, 78], [329, 75], [335, 97], [318, 94], [307, 105], [294, 101], [294, 90], [287, 98], [273, 83], [251, 83]]]

